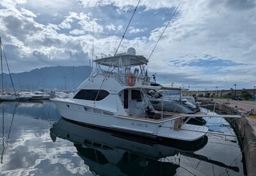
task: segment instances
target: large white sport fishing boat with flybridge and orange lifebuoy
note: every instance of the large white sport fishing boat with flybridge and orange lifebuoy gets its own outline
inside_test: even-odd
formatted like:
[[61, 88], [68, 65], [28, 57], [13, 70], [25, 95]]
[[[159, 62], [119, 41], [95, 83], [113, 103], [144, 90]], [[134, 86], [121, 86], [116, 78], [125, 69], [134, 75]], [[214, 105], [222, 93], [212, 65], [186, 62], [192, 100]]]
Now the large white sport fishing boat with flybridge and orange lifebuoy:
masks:
[[149, 84], [148, 59], [134, 48], [93, 62], [73, 98], [51, 98], [64, 119], [154, 139], [194, 141], [206, 135], [207, 127], [186, 124], [186, 114], [154, 110], [147, 92], [167, 87]]

